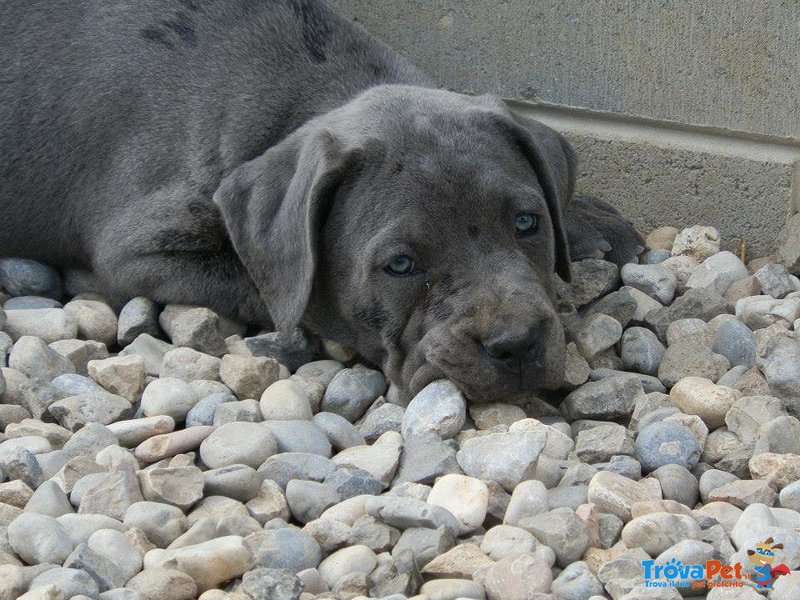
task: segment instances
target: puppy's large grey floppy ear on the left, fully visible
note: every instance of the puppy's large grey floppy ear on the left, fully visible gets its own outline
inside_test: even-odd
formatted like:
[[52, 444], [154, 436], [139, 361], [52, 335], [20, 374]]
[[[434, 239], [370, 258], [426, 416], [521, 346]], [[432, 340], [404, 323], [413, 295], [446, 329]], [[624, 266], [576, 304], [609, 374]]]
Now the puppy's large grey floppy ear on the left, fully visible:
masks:
[[297, 325], [306, 310], [322, 221], [354, 154], [330, 132], [303, 128], [235, 169], [214, 194], [278, 329]]

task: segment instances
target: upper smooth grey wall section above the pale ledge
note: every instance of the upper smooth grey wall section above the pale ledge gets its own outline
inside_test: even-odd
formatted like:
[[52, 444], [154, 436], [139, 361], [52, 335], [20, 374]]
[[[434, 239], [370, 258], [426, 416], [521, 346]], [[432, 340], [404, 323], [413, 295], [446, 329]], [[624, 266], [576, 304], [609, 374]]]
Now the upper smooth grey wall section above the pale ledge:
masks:
[[800, 2], [337, 0], [445, 87], [800, 139]]

